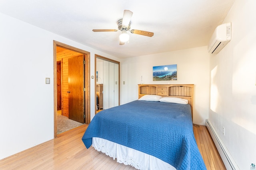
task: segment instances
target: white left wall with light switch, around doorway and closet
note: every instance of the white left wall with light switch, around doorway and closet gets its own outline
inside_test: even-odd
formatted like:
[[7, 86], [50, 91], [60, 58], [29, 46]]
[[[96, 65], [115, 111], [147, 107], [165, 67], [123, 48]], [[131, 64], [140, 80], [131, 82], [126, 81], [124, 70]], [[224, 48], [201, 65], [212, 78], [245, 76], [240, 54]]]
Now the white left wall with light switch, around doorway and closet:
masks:
[[[54, 137], [53, 40], [119, 61], [49, 31], [0, 13], [0, 159]], [[50, 84], [45, 84], [45, 78]], [[91, 79], [91, 118], [95, 113]]]

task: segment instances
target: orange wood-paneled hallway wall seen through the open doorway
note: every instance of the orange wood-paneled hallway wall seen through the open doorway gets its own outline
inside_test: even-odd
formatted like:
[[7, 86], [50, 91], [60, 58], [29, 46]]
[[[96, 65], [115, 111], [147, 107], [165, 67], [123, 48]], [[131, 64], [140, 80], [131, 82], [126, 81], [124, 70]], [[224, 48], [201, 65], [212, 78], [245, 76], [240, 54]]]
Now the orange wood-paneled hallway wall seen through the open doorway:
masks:
[[68, 58], [81, 55], [76, 51], [71, 51], [61, 47], [56, 48], [56, 61], [61, 61], [62, 65], [62, 113], [68, 117]]

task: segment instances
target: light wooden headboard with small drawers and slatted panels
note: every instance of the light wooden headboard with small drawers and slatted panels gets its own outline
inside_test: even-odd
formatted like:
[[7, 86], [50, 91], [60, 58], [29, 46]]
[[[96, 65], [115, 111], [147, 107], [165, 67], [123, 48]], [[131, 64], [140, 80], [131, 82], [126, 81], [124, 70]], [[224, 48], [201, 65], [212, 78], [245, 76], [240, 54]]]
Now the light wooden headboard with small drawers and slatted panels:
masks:
[[138, 84], [138, 86], [138, 98], [146, 94], [154, 94], [162, 97], [176, 97], [188, 100], [193, 119], [194, 84]]

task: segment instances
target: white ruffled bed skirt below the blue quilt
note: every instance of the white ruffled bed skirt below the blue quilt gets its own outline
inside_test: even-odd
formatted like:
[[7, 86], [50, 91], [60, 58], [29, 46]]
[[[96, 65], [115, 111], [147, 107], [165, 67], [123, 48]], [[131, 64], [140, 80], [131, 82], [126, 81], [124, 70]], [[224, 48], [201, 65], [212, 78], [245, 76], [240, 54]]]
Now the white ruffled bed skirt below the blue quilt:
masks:
[[93, 137], [92, 147], [112, 157], [117, 162], [133, 166], [138, 170], [176, 170], [172, 165], [135, 149], [119, 145], [106, 139]]

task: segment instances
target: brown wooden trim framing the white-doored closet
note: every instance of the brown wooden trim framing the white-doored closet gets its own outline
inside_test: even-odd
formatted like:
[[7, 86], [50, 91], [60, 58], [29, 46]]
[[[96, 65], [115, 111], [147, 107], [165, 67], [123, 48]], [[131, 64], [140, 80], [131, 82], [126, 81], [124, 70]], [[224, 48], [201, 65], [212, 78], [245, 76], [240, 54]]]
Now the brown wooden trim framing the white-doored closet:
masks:
[[[116, 64], [118, 64], [118, 105], [120, 105], [120, 62], [119, 61], [115, 61], [115, 60], [112, 60], [112, 59], [109, 59], [109, 58], [106, 58], [106, 57], [103, 57], [103, 56], [101, 56], [101, 55], [97, 55], [97, 54], [95, 54], [95, 56], [94, 56], [94, 89], [95, 89], [95, 92], [94, 92], [94, 94], [95, 94], [95, 115], [97, 114], [97, 88], [96, 88], [96, 84], [97, 84], [97, 82], [96, 82], [96, 71], [97, 71], [97, 68], [96, 68], [96, 59], [97, 58], [99, 58], [99, 59], [102, 59], [102, 60], [106, 60], [106, 61], [110, 61], [110, 62], [112, 62], [112, 63], [116, 63]], [[103, 91], [104, 91], [104, 89], [103, 89]], [[104, 98], [103, 98], [103, 100], [104, 100]]]

